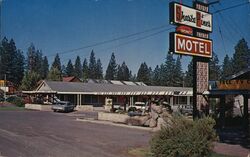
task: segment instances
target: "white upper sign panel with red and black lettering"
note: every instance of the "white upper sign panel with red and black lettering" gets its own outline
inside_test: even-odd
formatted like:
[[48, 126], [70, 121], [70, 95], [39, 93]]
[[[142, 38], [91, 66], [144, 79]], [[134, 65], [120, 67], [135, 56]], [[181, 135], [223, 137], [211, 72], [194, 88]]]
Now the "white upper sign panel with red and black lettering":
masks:
[[170, 23], [186, 25], [204, 31], [212, 32], [212, 15], [194, 8], [170, 3]]

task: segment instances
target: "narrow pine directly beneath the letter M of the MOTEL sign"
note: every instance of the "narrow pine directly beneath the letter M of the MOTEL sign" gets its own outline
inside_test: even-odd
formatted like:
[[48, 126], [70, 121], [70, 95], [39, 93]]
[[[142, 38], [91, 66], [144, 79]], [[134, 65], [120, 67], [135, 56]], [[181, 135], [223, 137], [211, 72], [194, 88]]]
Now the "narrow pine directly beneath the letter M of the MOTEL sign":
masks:
[[183, 72], [182, 72], [182, 67], [181, 67], [180, 56], [178, 56], [176, 59], [173, 76], [174, 76], [173, 86], [182, 87], [183, 86]]

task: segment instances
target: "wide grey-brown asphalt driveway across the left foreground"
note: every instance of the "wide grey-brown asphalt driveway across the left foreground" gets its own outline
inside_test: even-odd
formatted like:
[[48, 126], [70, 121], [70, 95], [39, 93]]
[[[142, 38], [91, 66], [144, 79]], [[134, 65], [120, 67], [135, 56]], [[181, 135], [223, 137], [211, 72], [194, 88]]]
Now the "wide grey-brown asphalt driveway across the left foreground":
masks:
[[0, 156], [128, 157], [147, 146], [143, 130], [79, 122], [73, 114], [0, 111]]

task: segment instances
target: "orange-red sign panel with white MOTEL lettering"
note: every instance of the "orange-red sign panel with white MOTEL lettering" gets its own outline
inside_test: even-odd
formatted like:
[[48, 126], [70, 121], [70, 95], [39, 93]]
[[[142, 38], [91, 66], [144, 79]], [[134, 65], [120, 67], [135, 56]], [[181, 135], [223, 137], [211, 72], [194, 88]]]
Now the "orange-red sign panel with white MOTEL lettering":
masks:
[[172, 32], [170, 51], [182, 55], [212, 58], [212, 40]]

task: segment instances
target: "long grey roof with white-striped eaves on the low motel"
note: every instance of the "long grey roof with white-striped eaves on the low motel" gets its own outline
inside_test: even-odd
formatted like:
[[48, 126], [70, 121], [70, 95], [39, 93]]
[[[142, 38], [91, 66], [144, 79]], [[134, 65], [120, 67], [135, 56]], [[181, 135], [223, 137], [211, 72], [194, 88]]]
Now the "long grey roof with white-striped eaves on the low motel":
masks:
[[43, 81], [35, 91], [26, 93], [192, 96], [192, 88]]

